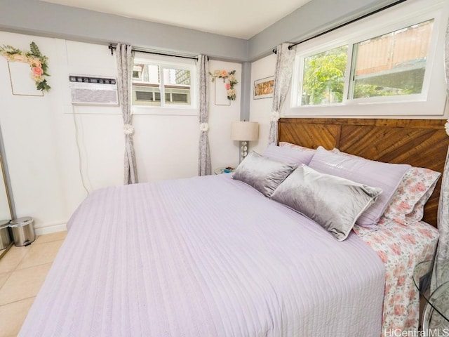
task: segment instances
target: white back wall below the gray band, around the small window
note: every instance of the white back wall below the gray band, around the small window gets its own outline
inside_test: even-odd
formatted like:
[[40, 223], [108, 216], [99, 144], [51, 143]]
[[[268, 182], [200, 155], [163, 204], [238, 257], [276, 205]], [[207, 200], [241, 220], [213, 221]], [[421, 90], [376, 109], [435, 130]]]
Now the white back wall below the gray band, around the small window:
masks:
[[[8, 63], [0, 57], [0, 125], [17, 216], [32, 216], [38, 234], [61, 230], [86, 197], [86, 189], [123, 184], [120, 108], [73, 107], [68, 87], [68, 74], [116, 77], [115, 57], [106, 46], [62, 39], [0, 32], [0, 41], [21, 50], [29, 50], [34, 41], [48, 56], [52, 88], [43, 97], [13, 95]], [[240, 79], [238, 63], [209, 64], [212, 71], [236, 70]], [[239, 84], [236, 90], [237, 100], [230, 106], [215, 106], [210, 83], [213, 168], [238, 160], [238, 144], [229, 139], [231, 121], [240, 116]], [[197, 116], [140, 114], [133, 116], [133, 125], [140, 182], [196, 176]]]

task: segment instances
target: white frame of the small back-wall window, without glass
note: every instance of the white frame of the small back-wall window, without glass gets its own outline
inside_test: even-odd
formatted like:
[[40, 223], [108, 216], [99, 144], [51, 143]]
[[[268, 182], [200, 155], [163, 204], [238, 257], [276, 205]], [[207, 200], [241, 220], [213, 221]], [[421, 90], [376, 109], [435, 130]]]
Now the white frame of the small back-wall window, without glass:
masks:
[[[175, 59], [176, 61], [174, 61]], [[159, 65], [161, 70], [163, 68], [170, 69], [187, 69], [190, 71], [190, 102], [189, 106], [182, 105], [166, 105], [165, 100], [161, 100], [160, 106], [148, 105], [131, 105], [132, 114], [150, 114], [159, 116], [198, 116], [199, 114], [199, 94], [197, 85], [197, 70], [196, 61], [187, 58], [173, 58], [170, 56], [136, 53], [134, 62], [142, 62], [148, 65]], [[133, 81], [139, 82], [139, 81]], [[143, 82], [142, 82], [143, 83]], [[159, 83], [159, 90], [161, 97], [164, 95], [163, 76], [161, 76]]]

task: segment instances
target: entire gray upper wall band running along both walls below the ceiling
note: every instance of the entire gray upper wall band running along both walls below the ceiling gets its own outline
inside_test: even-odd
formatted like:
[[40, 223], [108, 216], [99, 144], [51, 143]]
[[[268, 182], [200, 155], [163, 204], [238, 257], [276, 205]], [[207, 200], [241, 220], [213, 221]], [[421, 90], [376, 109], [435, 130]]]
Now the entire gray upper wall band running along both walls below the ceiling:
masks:
[[392, 2], [394, 0], [311, 0], [245, 40], [39, 0], [0, 0], [0, 30], [96, 44], [122, 42], [159, 51], [203, 53], [218, 60], [251, 62], [268, 55], [282, 42], [310, 37]]

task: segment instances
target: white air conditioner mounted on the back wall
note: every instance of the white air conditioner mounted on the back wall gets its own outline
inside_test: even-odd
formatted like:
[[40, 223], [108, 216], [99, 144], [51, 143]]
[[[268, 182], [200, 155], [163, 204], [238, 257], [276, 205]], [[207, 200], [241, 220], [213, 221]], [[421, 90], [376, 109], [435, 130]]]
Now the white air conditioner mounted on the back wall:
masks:
[[73, 105], [119, 105], [114, 77], [69, 75]]

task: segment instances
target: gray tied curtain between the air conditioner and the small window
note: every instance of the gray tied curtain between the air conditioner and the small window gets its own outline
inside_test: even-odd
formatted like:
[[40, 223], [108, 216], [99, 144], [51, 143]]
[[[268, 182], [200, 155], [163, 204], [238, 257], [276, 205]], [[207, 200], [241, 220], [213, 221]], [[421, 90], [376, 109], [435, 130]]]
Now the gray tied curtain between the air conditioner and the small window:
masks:
[[121, 113], [123, 115], [123, 132], [125, 133], [125, 161], [124, 180], [125, 185], [138, 183], [138, 171], [135, 164], [135, 154], [133, 145], [134, 128], [131, 121], [131, 77], [133, 74], [134, 52], [131, 46], [117, 44], [117, 87], [119, 89], [119, 99]]

